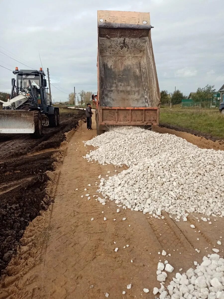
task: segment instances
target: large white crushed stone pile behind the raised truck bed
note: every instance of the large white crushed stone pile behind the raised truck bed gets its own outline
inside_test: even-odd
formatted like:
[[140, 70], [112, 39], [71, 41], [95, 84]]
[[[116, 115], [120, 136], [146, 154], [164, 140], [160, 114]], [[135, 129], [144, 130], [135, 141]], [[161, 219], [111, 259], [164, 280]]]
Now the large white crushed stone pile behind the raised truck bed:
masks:
[[200, 149], [170, 134], [118, 128], [85, 144], [99, 147], [84, 158], [130, 166], [101, 178], [98, 192], [135, 211], [161, 217], [161, 211], [224, 216], [224, 151]]

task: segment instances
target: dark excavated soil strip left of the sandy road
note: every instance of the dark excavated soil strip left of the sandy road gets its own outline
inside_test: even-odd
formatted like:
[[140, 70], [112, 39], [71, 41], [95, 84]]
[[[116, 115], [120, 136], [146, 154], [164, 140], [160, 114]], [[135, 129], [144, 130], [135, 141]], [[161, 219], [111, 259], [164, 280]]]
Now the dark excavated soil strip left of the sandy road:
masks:
[[37, 140], [29, 135], [0, 137], [0, 274], [16, 253], [26, 226], [52, 201], [46, 171], [55, 170], [63, 150], [38, 150], [59, 147], [64, 133], [76, 128], [83, 117], [82, 110], [63, 113], [60, 126], [44, 129]]

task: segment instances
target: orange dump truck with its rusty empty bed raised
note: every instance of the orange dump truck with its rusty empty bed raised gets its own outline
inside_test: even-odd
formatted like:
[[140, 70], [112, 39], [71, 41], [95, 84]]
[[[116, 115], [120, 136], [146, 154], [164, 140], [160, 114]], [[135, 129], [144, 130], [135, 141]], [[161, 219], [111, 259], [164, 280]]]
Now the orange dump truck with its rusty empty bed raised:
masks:
[[159, 124], [160, 92], [150, 14], [98, 10], [97, 134]]

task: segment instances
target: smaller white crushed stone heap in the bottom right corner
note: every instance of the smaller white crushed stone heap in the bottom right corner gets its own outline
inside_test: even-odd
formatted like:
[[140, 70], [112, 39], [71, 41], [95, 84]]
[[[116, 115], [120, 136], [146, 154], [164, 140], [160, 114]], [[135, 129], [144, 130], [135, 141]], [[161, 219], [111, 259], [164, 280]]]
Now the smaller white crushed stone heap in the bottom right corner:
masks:
[[157, 298], [166, 299], [224, 299], [224, 259], [218, 254], [204, 256], [195, 270], [190, 268], [186, 273], [176, 273], [167, 291], [163, 286], [155, 287], [153, 294], [157, 293], [163, 294]]

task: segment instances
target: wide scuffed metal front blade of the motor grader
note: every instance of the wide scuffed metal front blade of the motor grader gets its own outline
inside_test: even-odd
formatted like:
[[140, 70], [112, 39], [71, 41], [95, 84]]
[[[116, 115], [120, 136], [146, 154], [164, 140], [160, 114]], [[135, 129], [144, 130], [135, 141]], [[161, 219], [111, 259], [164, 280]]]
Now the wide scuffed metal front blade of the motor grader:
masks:
[[0, 110], [1, 133], [34, 133], [33, 112], [24, 110]]

